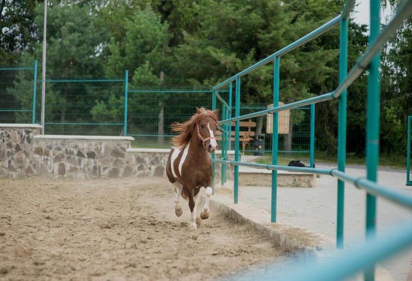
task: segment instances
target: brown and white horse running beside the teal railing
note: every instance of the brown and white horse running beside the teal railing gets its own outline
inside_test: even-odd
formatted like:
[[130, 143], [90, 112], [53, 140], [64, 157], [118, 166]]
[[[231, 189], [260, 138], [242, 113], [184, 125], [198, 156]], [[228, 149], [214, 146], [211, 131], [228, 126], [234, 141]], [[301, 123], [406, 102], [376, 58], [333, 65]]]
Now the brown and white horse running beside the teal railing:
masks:
[[189, 201], [190, 228], [200, 227], [201, 219], [209, 218], [212, 195], [212, 161], [218, 144], [215, 132], [218, 111], [196, 108], [196, 113], [184, 123], [173, 123], [179, 135], [172, 138], [173, 148], [167, 160], [166, 174], [175, 186], [175, 213], [183, 213], [180, 196]]

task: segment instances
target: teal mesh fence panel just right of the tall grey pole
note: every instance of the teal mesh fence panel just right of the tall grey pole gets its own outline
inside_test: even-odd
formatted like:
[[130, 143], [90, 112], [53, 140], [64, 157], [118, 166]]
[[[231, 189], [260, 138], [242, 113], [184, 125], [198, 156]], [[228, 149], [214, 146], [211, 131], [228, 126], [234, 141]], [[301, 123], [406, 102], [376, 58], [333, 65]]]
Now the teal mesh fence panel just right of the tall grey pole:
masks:
[[121, 78], [47, 78], [45, 134], [123, 135], [124, 88]]

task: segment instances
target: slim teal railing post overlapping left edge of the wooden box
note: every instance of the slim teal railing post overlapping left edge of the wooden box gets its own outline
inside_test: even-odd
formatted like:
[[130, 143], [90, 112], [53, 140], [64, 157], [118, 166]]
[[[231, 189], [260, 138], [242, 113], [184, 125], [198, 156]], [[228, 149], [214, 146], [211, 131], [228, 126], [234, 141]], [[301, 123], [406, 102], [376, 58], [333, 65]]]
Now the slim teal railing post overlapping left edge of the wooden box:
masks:
[[[279, 106], [279, 77], [280, 57], [275, 57], [273, 62], [273, 107]], [[272, 165], [277, 165], [278, 149], [278, 112], [273, 113], [272, 122]], [[277, 198], [277, 170], [272, 170], [272, 191], [270, 204], [270, 221], [276, 222], [276, 198]]]

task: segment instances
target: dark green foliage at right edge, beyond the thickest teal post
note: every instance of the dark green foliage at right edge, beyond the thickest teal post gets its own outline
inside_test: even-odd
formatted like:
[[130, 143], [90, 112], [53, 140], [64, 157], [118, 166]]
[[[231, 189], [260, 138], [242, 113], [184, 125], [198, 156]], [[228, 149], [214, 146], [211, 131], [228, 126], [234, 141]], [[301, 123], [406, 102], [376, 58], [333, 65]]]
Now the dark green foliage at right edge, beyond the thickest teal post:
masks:
[[[394, 13], [401, 2], [388, 1]], [[381, 53], [381, 149], [406, 153], [407, 116], [412, 115], [412, 20], [406, 20]]]

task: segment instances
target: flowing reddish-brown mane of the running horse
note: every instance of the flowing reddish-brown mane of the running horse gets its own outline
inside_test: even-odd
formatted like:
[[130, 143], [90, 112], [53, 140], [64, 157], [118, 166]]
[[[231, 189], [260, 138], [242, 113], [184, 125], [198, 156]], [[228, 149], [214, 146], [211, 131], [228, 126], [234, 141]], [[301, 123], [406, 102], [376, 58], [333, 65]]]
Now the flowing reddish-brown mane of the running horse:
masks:
[[184, 123], [174, 122], [171, 127], [172, 131], [178, 132], [179, 134], [172, 137], [172, 144], [175, 148], [185, 147], [190, 142], [191, 133], [195, 125], [200, 119], [210, 116], [216, 122], [218, 121], [218, 112], [205, 109], [204, 107], [196, 108], [196, 113], [194, 113], [189, 120]]

